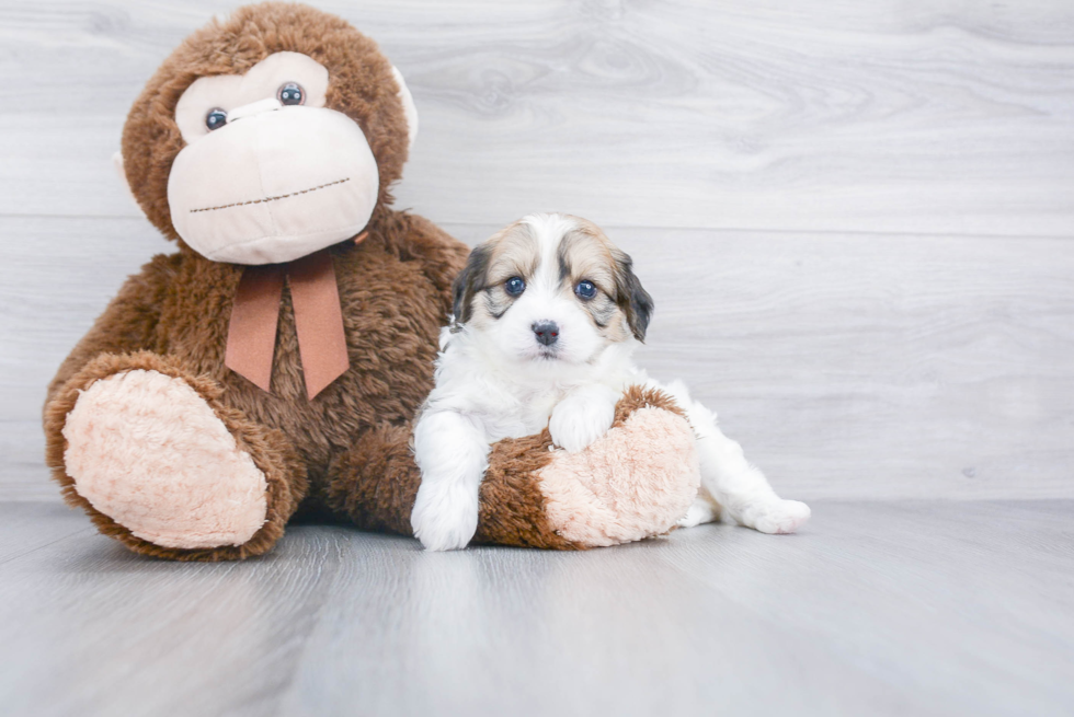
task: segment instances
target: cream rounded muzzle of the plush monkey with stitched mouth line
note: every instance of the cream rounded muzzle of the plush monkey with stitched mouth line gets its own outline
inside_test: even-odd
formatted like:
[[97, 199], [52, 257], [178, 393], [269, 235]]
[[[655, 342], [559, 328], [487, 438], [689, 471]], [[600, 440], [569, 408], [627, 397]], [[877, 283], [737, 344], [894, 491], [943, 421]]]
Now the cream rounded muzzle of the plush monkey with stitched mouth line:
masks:
[[266, 102], [183, 148], [168, 204], [175, 231], [206, 258], [279, 264], [358, 234], [379, 186], [353, 119]]

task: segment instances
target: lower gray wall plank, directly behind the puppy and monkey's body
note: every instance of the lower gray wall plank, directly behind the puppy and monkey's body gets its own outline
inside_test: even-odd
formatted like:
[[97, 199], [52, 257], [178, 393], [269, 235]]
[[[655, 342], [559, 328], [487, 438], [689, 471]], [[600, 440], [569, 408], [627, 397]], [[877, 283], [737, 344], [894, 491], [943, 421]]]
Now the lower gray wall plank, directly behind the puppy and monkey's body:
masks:
[[[639, 361], [687, 381], [785, 495], [1074, 498], [1069, 242], [609, 232], [656, 302]], [[0, 235], [21, 267], [0, 285], [0, 496], [49, 498], [45, 385], [167, 244], [137, 219], [0, 218]]]

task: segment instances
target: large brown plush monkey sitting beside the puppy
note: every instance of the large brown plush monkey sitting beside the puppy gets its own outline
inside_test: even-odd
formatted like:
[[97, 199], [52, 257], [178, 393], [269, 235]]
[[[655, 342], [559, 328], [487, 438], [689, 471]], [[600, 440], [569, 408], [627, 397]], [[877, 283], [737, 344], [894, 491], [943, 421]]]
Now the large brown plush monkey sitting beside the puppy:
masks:
[[[377, 46], [304, 5], [242, 8], [164, 60], [122, 158], [179, 251], [130, 277], [45, 405], [49, 466], [103, 533], [206, 560], [264, 553], [299, 507], [410, 534], [411, 420], [467, 254], [390, 208], [415, 130]], [[573, 455], [547, 430], [498, 444], [477, 542], [579, 548], [670, 530], [697, 489], [674, 405], [633, 391], [602, 440]], [[557, 509], [568, 493], [589, 512]]]

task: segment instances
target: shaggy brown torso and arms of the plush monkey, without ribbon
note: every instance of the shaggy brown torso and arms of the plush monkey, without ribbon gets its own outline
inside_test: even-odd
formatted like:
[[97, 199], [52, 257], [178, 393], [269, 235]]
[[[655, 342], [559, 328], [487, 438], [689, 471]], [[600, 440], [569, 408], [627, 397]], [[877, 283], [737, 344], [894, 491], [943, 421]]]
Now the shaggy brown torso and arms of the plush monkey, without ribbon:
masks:
[[[357, 245], [345, 242], [332, 250], [351, 369], [316, 401], [306, 395], [289, 291], [284, 291], [281, 307], [272, 392], [265, 393], [224, 365], [242, 267], [209, 262], [183, 247], [156, 257], [128, 279], [60, 368], [47, 403], [54, 447], [60, 446], [68, 404], [77, 401], [79, 390], [105, 378], [102, 371], [196, 377], [219, 390], [214, 403], [233, 412], [232, 419], [262, 429], [273, 452], [286, 456], [276, 466], [273, 456], [253, 456], [259, 466], [265, 464], [266, 474], [278, 474], [286, 484], [282, 521], [305, 499], [310, 509], [331, 511], [364, 528], [409, 533], [407, 501], [416, 492], [408, 449], [410, 420], [432, 388], [436, 337], [450, 310], [450, 281], [468, 250], [420, 217], [378, 213], [382, 228], [370, 227]], [[81, 380], [71, 381], [79, 374]], [[361, 455], [352, 452], [356, 446]], [[62, 455], [54, 451], [52, 459], [62, 465]], [[391, 465], [392, 459], [399, 465]], [[366, 474], [365, 469], [372, 470]], [[95, 512], [76, 492], [68, 495]], [[114, 532], [111, 521], [103, 527], [152, 554], [201, 556]], [[224, 551], [220, 557], [240, 553]]]

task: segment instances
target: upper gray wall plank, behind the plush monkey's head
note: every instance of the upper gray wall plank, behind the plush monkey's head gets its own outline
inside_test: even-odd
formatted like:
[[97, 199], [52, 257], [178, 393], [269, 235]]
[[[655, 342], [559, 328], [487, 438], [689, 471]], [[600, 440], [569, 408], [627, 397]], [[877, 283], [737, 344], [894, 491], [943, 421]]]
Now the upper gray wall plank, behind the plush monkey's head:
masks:
[[[1074, 5], [327, 1], [410, 78], [399, 189], [435, 221], [1074, 231]], [[0, 213], [135, 216], [111, 173], [152, 69], [226, 0], [7, 2]]]

